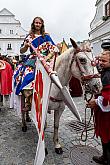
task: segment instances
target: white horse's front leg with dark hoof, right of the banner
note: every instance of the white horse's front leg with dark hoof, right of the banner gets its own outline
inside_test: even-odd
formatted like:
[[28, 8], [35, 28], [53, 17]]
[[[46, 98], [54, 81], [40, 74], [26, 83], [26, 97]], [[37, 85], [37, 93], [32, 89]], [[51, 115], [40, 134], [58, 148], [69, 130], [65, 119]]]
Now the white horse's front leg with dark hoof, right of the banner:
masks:
[[59, 143], [59, 137], [58, 137], [59, 121], [60, 121], [60, 117], [61, 117], [63, 111], [64, 111], [64, 106], [62, 108], [59, 108], [59, 110], [54, 111], [54, 136], [53, 136], [53, 140], [54, 140], [54, 145], [55, 145], [55, 152], [57, 154], [63, 153], [62, 147]]

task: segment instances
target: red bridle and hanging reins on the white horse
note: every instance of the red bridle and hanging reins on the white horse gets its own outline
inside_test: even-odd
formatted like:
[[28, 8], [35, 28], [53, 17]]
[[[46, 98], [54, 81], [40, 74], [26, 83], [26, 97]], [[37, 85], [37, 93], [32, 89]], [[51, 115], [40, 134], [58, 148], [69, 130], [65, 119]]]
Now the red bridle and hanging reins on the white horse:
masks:
[[[92, 89], [89, 88], [89, 80], [91, 80], [93, 78], [99, 78], [100, 76], [99, 76], [99, 74], [94, 74], [94, 69], [93, 69], [93, 73], [92, 74], [88, 74], [88, 75], [86, 74], [86, 70], [82, 67], [81, 62], [80, 62], [79, 58], [77, 57], [77, 53], [79, 53], [79, 52], [84, 52], [86, 57], [91, 62], [91, 66], [93, 66], [93, 67], [96, 66], [95, 65], [96, 61], [91, 60], [87, 56], [86, 52], [88, 52], [88, 51], [86, 51], [86, 50], [78, 50], [78, 51], [76, 51], [75, 54], [73, 55], [73, 59], [72, 59], [72, 63], [73, 63], [74, 60], [76, 60], [76, 65], [78, 66], [78, 68], [80, 70], [80, 73], [81, 73], [81, 81], [82, 81], [83, 85], [85, 86], [84, 100], [89, 102], [92, 99], [92, 97], [93, 97], [93, 91], [92, 91]], [[71, 67], [72, 67], [72, 63], [71, 63]], [[92, 65], [92, 64], [94, 64], [94, 65]], [[89, 98], [87, 97], [87, 94], [90, 94]], [[88, 132], [88, 126], [89, 126], [90, 121], [91, 121], [91, 119], [93, 117], [93, 111], [91, 110], [91, 115], [90, 115], [90, 118], [89, 118], [88, 122], [86, 121], [87, 120], [86, 119], [86, 115], [87, 115], [87, 107], [85, 107], [85, 117], [84, 117], [85, 127], [84, 127], [84, 129], [83, 129], [83, 131], [81, 133], [81, 140], [83, 142], [85, 142], [87, 140], [87, 137], [88, 137], [88, 133], [87, 133]]]

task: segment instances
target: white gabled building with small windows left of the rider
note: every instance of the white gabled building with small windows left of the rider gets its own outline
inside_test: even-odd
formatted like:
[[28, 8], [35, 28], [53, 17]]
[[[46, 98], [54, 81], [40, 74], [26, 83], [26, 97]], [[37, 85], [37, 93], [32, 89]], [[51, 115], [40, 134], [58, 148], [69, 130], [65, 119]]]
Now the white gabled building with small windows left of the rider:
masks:
[[0, 53], [1, 55], [20, 57], [20, 46], [27, 34], [21, 27], [20, 21], [15, 19], [6, 8], [0, 11]]

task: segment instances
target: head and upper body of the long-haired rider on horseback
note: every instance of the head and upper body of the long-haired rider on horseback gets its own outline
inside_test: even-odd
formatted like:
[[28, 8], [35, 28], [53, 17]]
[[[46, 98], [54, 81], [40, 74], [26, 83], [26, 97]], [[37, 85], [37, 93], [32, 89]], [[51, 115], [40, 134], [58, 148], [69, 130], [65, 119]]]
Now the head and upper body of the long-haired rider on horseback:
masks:
[[31, 30], [20, 48], [21, 54], [25, 53], [28, 48], [30, 48], [31, 53], [33, 52], [30, 43], [32, 43], [32, 45], [37, 48], [38, 53], [41, 53], [43, 56], [47, 56], [56, 48], [50, 35], [45, 32], [44, 21], [41, 17], [34, 18], [31, 24]]

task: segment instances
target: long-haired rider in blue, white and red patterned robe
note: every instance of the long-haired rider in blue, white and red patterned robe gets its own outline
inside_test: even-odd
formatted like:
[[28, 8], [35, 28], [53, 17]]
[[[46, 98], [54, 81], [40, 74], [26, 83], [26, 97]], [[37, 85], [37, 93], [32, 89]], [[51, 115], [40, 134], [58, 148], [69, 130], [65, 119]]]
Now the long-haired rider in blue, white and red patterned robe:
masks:
[[21, 62], [15, 70], [15, 93], [17, 95], [19, 95], [23, 89], [33, 89], [35, 62], [37, 57], [30, 47], [31, 44], [36, 48], [37, 52], [45, 58], [49, 65], [52, 66], [54, 51], [57, 47], [50, 35], [45, 32], [44, 21], [41, 17], [34, 18], [31, 24], [31, 30], [20, 48], [21, 54], [24, 54], [28, 49], [31, 54], [27, 55], [23, 63]]

